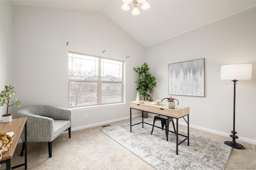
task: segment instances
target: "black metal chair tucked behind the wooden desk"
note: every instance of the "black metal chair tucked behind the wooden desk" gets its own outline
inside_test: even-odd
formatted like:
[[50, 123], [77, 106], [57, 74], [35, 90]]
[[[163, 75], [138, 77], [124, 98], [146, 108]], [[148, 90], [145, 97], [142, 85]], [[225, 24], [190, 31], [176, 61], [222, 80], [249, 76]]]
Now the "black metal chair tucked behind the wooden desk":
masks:
[[[164, 99], [169, 99], [169, 98], [164, 98]], [[162, 101], [164, 99], [162, 99]], [[174, 100], [178, 101], [177, 99], [174, 99]], [[178, 101], [177, 105], [179, 105], [179, 101]], [[173, 118], [172, 117], [168, 117], [168, 116], [163, 116], [163, 115], [156, 115], [156, 116], [154, 116], [154, 122], [153, 122], [153, 127], [152, 127], [151, 134], [153, 133], [156, 121], [161, 121], [162, 130], [164, 130], [164, 127], [165, 127], [166, 140], [168, 141], [169, 124], [170, 124], [170, 122], [172, 122], [172, 126], [174, 128], [174, 132], [176, 132], [176, 129], [175, 129], [175, 126], [174, 126], [174, 122], [173, 122]]]

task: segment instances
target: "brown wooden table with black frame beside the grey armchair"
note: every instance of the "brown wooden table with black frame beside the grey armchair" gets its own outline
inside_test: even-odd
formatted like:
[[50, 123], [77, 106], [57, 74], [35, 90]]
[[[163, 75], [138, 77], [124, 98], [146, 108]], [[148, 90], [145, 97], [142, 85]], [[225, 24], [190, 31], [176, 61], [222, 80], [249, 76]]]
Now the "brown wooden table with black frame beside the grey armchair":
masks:
[[[20, 139], [20, 136], [22, 134], [23, 128], [25, 128], [25, 162], [24, 164], [20, 164], [12, 167], [11, 159], [16, 149], [16, 146], [18, 144], [18, 141]], [[15, 133], [14, 136], [12, 136], [13, 142], [10, 145], [9, 150], [2, 154], [2, 159], [0, 160], [0, 164], [6, 163], [6, 170], [11, 170], [14, 168], [18, 168], [20, 166], [25, 166], [25, 170], [26, 170], [27, 169], [27, 142], [26, 142], [27, 141], [27, 118], [22, 117], [19, 119], [12, 119], [12, 121], [8, 123], [2, 123], [2, 121], [0, 121], [0, 131]]]

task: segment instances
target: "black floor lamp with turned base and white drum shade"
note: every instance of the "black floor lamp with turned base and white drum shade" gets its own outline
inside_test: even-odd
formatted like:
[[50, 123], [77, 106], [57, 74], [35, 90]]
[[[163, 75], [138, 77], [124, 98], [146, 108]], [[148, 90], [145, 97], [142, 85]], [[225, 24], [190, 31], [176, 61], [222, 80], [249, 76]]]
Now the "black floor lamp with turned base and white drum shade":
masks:
[[243, 149], [242, 144], [236, 143], [236, 130], [235, 130], [235, 109], [236, 109], [236, 82], [238, 80], [250, 80], [252, 78], [252, 64], [230, 64], [222, 65], [220, 67], [220, 79], [231, 80], [234, 82], [234, 107], [233, 107], [233, 130], [230, 137], [232, 141], [225, 141], [224, 143], [232, 148]]

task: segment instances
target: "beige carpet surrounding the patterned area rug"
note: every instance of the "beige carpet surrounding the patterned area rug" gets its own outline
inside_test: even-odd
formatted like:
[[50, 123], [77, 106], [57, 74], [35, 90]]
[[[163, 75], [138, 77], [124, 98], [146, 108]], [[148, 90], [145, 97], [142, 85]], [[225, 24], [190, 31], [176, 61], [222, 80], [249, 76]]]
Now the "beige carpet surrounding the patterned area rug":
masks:
[[[133, 120], [135, 120], [134, 118]], [[137, 119], [140, 119], [139, 117]], [[147, 118], [152, 120], [152, 117]], [[110, 125], [119, 125], [129, 122], [119, 121]], [[159, 121], [158, 121], [159, 122]], [[108, 127], [106, 127], [108, 128]], [[179, 126], [180, 130], [186, 127]], [[61, 134], [53, 141], [52, 158], [48, 158], [47, 143], [28, 143], [28, 169], [29, 170], [154, 170], [152, 166], [138, 158], [132, 152], [112, 140], [100, 130], [102, 126], [72, 131], [71, 138], [68, 133]], [[190, 133], [212, 138], [220, 142], [230, 138], [212, 134], [202, 130], [190, 128]], [[239, 141], [246, 148], [252, 144]], [[12, 158], [12, 166], [21, 164], [24, 156], [20, 157], [22, 144], [18, 144]], [[254, 166], [256, 167], [256, 156], [246, 156], [247, 151], [232, 149], [225, 170], [234, 169], [231, 166]], [[0, 170], [5, 169], [2, 164]], [[17, 168], [22, 170], [23, 167]]]

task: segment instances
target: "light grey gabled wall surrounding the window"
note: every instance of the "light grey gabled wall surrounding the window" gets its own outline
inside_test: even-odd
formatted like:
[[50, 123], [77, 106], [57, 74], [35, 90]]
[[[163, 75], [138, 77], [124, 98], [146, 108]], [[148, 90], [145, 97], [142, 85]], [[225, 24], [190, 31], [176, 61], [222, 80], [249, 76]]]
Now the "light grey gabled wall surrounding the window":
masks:
[[[70, 50], [122, 60], [126, 73], [126, 103], [73, 109], [73, 130], [128, 119], [129, 102], [137, 94], [134, 82], [138, 77], [132, 67], [144, 61], [142, 45], [102, 13], [16, 5], [14, 10], [13, 84], [23, 101], [22, 107], [68, 107]], [[88, 118], [84, 118], [84, 113], [88, 113]]]

